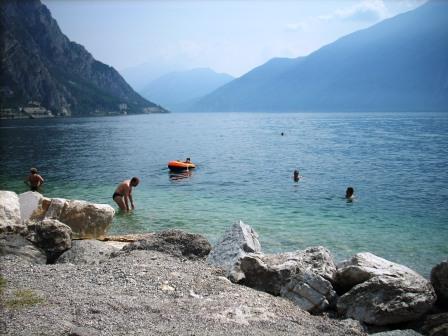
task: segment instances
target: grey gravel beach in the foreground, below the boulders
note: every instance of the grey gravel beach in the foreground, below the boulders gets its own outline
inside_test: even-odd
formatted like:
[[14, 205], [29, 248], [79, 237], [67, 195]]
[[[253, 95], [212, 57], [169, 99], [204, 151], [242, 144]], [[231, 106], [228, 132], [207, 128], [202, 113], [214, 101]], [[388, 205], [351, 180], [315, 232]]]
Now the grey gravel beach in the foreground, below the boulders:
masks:
[[355, 321], [312, 316], [203, 260], [157, 251], [98, 265], [13, 256], [0, 265], [2, 335], [366, 335]]

